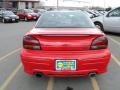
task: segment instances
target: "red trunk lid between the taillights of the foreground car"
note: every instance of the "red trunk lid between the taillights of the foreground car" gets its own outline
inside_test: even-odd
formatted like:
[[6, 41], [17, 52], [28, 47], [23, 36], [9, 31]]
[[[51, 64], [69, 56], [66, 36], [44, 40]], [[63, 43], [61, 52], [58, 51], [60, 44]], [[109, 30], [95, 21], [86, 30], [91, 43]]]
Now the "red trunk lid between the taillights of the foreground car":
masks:
[[[68, 29], [68, 28], [67, 28]], [[36, 29], [35, 29], [36, 30]], [[91, 29], [38, 29], [30, 33], [36, 37], [45, 51], [83, 51], [89, 50], [92, 40], [102, 35]], [[34, 33], [34, 34], [33, 34]]]

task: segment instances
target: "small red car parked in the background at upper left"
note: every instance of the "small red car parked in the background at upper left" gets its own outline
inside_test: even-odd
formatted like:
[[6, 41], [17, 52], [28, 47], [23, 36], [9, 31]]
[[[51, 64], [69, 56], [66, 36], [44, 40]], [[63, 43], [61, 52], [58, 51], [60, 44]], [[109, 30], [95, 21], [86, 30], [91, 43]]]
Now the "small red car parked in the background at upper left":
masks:
[[37, 20], [39, 18], [39, 15], [30, 9], [20, 9], [17, 11], [17, 15], [25, 21]]

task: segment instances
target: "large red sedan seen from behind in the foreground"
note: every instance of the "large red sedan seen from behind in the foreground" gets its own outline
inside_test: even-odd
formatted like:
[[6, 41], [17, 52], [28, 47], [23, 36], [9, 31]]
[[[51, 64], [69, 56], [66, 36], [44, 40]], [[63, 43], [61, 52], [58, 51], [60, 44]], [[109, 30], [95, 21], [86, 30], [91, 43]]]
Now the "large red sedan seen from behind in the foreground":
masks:
[[23, 38], [29, 74], [86, 76], [105, 73], [111, 57], [105, 34], [82, 11], [49, 11]]

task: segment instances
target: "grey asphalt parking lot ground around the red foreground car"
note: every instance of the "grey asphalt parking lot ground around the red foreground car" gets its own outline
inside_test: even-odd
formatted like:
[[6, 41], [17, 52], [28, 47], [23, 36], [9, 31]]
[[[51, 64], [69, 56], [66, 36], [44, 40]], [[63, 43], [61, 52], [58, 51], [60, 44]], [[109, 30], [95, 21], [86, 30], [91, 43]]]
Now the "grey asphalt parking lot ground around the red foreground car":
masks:
[[34, 24], [24, 21], [0, 23], [0, 90], [120, 90], [120, 35], [117, 34], [107, 33], [112, 58], [105, 74], [38, 78], [24, 73], [19, 56], [22, 38]]

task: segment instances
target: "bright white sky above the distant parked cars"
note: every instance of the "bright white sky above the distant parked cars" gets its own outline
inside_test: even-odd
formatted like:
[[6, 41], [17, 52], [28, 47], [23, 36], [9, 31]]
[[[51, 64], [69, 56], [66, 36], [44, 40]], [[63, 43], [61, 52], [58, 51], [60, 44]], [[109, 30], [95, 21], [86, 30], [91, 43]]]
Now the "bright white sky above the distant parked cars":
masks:
[[[81, 2], [79, 3], [77, 1]], [[57, 0], [41, 0], [41, 2], [46, 6], [56, 6]], [[120, 0], [59, 0], [59, 6], [118, 7], [120, 6]]]

